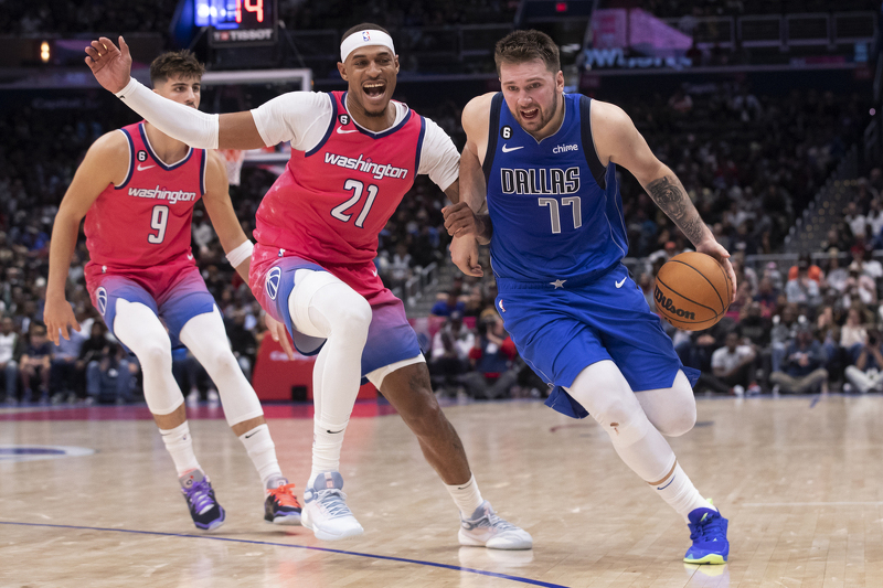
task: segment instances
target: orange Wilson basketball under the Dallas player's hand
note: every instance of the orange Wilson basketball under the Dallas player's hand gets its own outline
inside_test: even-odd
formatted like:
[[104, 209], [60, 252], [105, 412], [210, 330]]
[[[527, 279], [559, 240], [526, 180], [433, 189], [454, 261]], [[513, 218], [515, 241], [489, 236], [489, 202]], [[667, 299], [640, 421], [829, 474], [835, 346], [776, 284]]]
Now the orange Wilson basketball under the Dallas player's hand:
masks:
[[733, 285], [715, 258], [687, 252], [659, 269], [653, 298], [657, 312], [668, 322], [685, 331], [702, 331], [724, 317]]

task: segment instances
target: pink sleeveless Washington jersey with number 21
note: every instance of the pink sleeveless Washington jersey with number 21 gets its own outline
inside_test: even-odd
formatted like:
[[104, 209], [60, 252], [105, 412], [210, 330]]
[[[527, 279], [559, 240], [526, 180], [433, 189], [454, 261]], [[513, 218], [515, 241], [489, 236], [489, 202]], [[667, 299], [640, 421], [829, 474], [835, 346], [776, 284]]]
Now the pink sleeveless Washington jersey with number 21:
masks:
[[423, 117], [408, 110], [395, 127], [372, 133], [353, 122], [345, 93], [329, 96], [333, 116], [325, 138], [310, 151], [291, 150], [257, 210], [253, 268], [287, 256], [323, 267], [370, 264], [377, 235], [414, 183]]

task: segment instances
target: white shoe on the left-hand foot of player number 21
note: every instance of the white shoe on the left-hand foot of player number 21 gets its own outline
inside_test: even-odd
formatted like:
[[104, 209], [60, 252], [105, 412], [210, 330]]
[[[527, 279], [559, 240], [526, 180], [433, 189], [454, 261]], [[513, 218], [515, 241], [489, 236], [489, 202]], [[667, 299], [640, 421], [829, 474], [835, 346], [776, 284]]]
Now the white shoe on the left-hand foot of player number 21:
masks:
[[342, 488], [343, 478], [339, 472], [325, 472], [317, 475], [312, 487], [304, 492], [300, 522], [316, 534], [316, 538], [337, 541], [364, 533], [347, 506]]

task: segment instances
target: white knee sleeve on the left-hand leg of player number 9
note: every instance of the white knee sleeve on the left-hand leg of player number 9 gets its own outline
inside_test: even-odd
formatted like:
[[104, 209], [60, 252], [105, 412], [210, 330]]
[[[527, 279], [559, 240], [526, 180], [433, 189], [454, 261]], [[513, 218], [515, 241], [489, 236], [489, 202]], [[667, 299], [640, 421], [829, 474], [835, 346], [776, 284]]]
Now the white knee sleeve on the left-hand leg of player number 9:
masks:
[[173, 413], [184, 402], [172, 376], [172, 344], [156, 313], [140, 302], [117, 299], [114, 334], [129, 348], [145, 375], [145, 400], [155, 415]]

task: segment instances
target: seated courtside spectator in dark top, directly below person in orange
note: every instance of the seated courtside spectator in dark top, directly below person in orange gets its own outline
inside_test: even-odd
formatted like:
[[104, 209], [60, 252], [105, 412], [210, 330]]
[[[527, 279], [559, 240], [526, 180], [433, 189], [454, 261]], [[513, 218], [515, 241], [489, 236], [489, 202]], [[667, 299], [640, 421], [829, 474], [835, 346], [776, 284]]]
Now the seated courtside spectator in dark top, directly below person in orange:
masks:
[[828, 371], [823, 367], [828, 357], [825, 349], [812, 336], [809, 325], [801, 325], [797, 338], [785, 353], [783, 371], [773, 372], [769, 382], [773, 393], [802, 394], [807, 392], [828, 392]]

